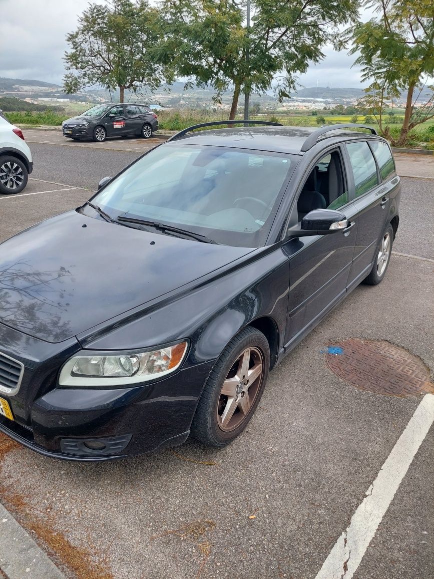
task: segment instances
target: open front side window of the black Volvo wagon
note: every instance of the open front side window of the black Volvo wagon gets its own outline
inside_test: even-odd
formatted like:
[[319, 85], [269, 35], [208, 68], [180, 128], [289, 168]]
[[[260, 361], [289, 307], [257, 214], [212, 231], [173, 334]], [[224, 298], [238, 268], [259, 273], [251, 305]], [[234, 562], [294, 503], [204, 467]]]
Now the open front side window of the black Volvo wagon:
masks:
[[318, 160], [297, 201], [299, 221], [314, 209], [339, 209], [348, 203], [341, 156], [332, 151]]

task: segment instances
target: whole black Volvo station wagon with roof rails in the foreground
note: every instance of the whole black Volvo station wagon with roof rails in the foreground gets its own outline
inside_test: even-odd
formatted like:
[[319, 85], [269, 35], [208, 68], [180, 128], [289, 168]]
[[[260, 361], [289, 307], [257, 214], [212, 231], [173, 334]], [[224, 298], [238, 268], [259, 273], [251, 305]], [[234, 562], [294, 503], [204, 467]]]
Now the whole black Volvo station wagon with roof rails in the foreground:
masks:
[[226, 445], [279, 360], [380, 283], [388, 143], [254, 124], [183, 130], [0, 245], [0, 431], [70, 460]]

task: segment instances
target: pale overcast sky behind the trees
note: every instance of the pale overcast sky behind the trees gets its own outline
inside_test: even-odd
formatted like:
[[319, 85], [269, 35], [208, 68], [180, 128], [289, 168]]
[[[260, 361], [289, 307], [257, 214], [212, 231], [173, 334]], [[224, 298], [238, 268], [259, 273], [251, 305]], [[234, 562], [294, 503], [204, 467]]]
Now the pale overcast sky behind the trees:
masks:
[[[102, 0], [98, 0], [101, 1]], [[58, 85], [67, 49], [65, 35], [76, 28], [88, 0], [0, 0], [0, 76], [45, 80]], [[325, 49], [326, 58], [300, 76], [303, 86], [361, 86], [354, 57]]]

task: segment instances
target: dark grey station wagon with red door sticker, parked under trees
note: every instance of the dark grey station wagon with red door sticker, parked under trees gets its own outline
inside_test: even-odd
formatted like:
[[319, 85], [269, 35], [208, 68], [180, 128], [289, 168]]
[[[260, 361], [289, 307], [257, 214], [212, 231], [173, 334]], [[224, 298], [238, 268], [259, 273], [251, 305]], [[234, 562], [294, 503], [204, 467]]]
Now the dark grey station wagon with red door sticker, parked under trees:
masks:
[[142, 135], [149, 139], [158, 130], [155, 112], [145, 105], [111, 103], [97, 105], [62, 123], [64, 137], [75, 141], [91, 138], [102, 142], [107, 137]]

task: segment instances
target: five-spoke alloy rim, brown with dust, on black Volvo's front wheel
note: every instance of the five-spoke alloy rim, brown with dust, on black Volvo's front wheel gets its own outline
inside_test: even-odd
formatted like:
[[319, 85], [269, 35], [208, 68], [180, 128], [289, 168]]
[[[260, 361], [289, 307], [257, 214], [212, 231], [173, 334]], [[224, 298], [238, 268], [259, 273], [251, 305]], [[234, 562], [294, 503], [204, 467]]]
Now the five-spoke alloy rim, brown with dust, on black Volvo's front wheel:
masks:
[[263, 366], [262, 353], [253, 347], [242, 351], [232, 365], [223, 382], [217, 406], [221, 430], [234, 430], [250, 413], [262, 383]]

